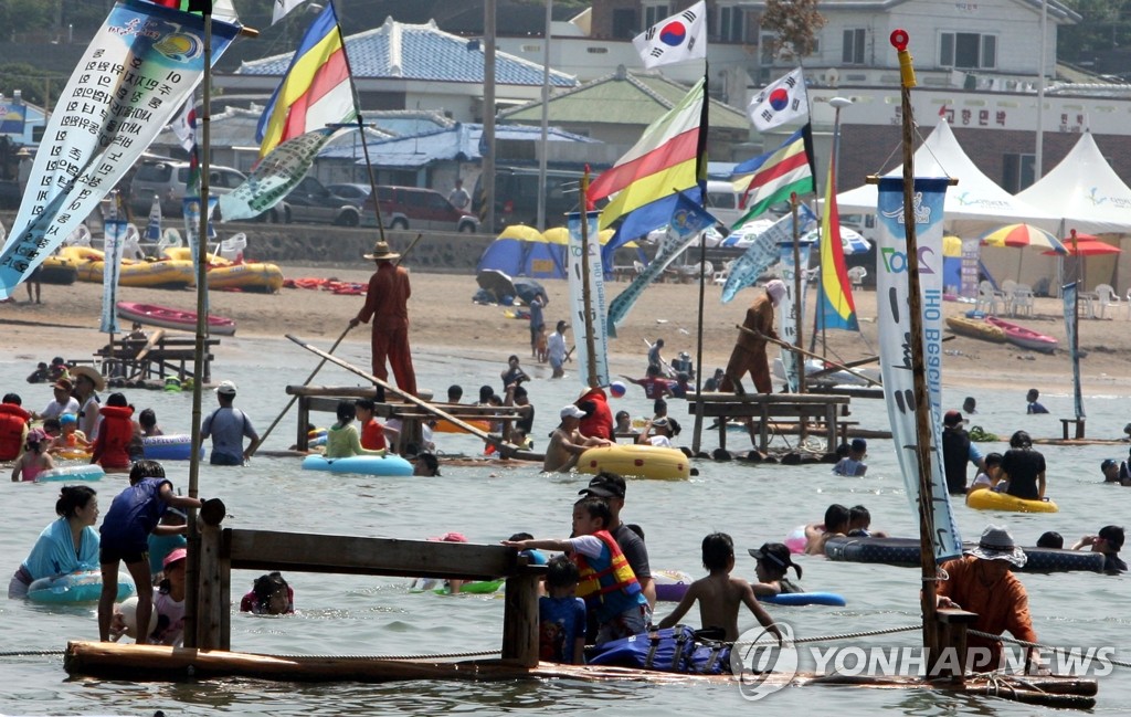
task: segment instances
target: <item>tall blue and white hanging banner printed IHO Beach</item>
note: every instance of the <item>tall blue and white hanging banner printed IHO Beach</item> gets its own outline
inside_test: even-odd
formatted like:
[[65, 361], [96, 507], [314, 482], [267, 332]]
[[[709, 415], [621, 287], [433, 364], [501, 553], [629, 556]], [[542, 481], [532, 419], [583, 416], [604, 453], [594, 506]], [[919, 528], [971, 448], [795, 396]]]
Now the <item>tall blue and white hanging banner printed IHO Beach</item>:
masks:
[[[912, 375], [912, 340], [923, 342], [926, 362], [927, 409], [931, 412], [931, 517], [934, 526], [931, 542], [935, 559], [948, 560], [962, 554], [962, 542], [950, 508], [947, 478], [942, 468], [942, 219], [947, 195], [946, 179], [915, 180], [915, 224], [918, 257], [907, 256], [904, 226], [904, 181], [880, 178], [877, 217], [877, 297], [880, 371], [883, 396], [896, 456], [904, 474], [904, 484], [912, 509], [918, 510], [920, 470], [916, 458], [918, 438], [915, 429], [915, 391]], [[908, 316], [908, 271], [916, 269], [922, 291], [923, 336], [910, 336]]]

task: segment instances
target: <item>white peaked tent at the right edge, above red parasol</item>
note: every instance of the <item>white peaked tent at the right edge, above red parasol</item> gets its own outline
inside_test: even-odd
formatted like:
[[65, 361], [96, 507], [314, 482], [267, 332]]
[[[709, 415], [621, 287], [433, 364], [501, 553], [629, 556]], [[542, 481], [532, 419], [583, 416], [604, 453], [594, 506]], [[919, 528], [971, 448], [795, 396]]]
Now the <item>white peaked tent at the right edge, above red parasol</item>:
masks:
[[1065, 235], [1073, 228], [1131, 232], [1131, 189], [1104, 159], [1091, 132], [1081, 135], [1060, 164], [1017, 198], [1064, 219]]

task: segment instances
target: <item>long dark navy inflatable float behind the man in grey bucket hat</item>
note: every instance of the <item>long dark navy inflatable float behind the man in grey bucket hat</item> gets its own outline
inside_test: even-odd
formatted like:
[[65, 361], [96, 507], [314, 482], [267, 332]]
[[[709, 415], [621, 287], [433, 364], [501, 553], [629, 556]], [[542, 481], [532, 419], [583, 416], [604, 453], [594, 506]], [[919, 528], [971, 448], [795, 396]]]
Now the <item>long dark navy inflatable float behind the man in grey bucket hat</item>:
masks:
[[[966, 543], [967, 550], [974, 543]], [[1054, 550], [1051, 547], [1022, 547], [1028, 555], [1021, 572], [1069, 572], [1086, 570], [1103, 572], [1103, 553]], [[920, 567], [918, 538], [849, 538], [831, 537], [824, 544], [824, 554], [829, 560], [883, 563], [901, 568]]]

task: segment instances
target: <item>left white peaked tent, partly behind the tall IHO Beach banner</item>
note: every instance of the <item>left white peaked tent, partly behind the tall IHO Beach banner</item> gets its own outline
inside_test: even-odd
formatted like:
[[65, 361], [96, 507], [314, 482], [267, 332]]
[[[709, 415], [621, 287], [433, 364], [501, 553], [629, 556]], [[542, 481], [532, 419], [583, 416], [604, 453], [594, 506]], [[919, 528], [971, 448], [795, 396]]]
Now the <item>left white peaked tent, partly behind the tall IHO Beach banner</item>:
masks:
[[[903, 176], [899, 165], [886, 176]], [[973, 237], [1002, 226], [1027, 222], [1055, 231], [1060, 216], [1037, 209], [999, 187], [982, 173], [962, 152], [947, 122], [939, 122], [923, 145], [915, 150], [916, 176], [951, 176], [958, 184], [947, 190], [946, 226], [951, 233]], [[837, 195], [841, 214], [875, 213], [878, 189], [865, 184]], [[1044, 206], [1044, 205], [1039, 205]]]

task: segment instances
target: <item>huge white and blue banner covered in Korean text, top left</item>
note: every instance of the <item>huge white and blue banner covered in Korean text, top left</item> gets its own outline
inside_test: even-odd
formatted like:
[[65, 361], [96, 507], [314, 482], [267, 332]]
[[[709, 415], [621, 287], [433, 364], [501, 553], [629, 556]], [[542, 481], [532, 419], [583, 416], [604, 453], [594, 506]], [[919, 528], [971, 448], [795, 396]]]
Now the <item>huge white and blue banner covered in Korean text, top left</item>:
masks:
[[[213, 19], [213, 62], [239, 26]], [[0, 253], [11, 295], [126, 174], [204, 75], [204, 18], [139, 0], [116, 3], [67, 81], [43, 132]]]

